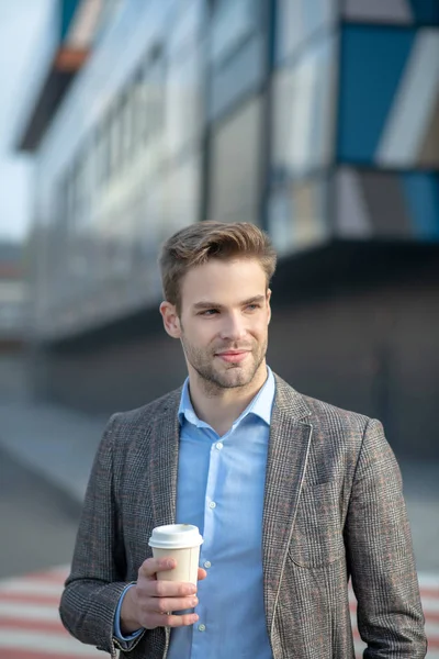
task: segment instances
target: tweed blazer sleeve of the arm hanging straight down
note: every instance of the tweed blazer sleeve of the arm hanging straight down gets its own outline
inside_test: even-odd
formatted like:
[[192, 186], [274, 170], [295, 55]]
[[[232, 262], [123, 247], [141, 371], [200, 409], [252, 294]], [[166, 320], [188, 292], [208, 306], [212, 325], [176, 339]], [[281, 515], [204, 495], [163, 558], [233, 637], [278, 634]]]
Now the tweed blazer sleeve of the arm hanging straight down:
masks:
[[402, 491], [383, 426], [369, 420], [346, 521], [347, 560], [368, 659], [421, 659], [424, 615]]

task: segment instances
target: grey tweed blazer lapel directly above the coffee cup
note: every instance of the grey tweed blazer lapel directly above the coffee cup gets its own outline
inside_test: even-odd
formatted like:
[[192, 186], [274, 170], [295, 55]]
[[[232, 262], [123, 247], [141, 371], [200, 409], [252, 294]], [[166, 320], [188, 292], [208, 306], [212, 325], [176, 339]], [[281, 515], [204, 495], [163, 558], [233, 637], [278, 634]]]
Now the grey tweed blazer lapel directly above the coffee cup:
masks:
[[150, 436], [148, 481], [155, 526], [176, 523], [181, 389], [170, 394]]

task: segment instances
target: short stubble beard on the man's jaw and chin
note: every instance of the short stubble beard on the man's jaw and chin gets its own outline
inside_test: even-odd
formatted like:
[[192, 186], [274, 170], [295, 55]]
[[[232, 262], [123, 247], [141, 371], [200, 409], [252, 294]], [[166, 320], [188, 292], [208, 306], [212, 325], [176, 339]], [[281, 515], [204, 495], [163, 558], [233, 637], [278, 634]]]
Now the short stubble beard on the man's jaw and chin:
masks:
[[239, 349], [239, 347], [222, 346], [216, 350], [200, 349], [191, 345], [184, 337], [181, 337], [181, 343], [188, 362], [199, 375], [203, 389], [209, 395], [216, 395], [224, 389], [248, 387], [257, 375], [267, 353], [266, 339], [262, 344], [256, 344], [251, 347], [244, 365], [241, 362], [229, 362], [219, 368], [215, 367], [215, 353], [219, 349], [224, 351]]

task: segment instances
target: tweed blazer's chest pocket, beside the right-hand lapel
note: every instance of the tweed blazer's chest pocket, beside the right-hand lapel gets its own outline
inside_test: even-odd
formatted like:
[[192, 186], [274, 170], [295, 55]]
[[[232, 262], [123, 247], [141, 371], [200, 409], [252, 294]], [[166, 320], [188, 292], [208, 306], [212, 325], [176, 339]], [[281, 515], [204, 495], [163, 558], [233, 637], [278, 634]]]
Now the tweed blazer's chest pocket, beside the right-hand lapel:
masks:
[[304, 568], [328, 566], [345, 554], [337, 482], [304, 487], [291, 538], [291, 560]]

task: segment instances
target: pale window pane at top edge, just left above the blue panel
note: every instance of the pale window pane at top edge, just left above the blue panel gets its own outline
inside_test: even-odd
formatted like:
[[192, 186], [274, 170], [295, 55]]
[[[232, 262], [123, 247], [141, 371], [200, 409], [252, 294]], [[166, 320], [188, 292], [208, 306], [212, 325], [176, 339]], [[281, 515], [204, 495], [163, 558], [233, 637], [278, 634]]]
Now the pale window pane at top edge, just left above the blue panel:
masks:
[[289, 57], [316, 30], [336, 19], [335, 0], [279, 0], [277, 13], [277, 60]]

